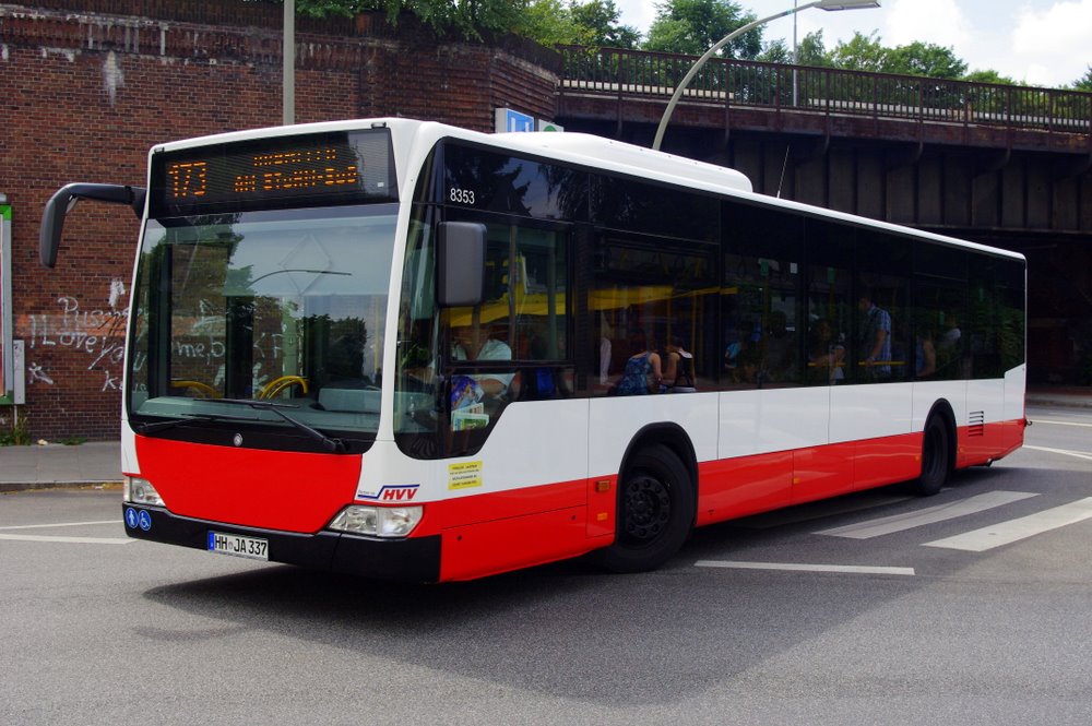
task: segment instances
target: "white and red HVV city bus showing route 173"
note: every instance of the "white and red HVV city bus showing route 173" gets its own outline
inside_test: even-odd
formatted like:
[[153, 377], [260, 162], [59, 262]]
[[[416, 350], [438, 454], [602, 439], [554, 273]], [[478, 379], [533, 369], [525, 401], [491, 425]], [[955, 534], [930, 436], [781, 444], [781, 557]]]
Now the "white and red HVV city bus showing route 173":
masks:
[[1012, 252], [583, 134], [375, 119], [149, 160], [146, 189], [58, 191], [41, 235], [51, 265], [73, 200], [142, 219], [133, 537], [425, 582], [639, 571], [1023, 440]]

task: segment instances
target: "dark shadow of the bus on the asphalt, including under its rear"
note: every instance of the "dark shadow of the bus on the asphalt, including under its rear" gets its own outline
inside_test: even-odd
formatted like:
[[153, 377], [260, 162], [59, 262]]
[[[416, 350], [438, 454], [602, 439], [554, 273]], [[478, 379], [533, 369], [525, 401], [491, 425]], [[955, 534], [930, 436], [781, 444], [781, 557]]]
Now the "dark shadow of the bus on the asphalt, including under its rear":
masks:
[[[607, 706], [669, 705], [732, 690], [752, 674], [773, 678], [786, 695], [806, 695], [806, 689], [838, 679], [836, 673], [794, 674], [793, 664], [814, 658], [816, 648], [832, 646], [836, 657], [883, 659], [900, 657], [900, 647], [924, 647], [922, 620], [891, 612], [904, 607], [897, 603], [912, 603], [911, 609], [931, 621], [935, 604], [928, 604], [926, 591], [933, 580], [710, 571], [695, 568], [696, 560], [746, 559], [768, 547], [784, 555], [790, 550], [779, 548], [793, 546], [797, 555], [815, 557], [800, 543], [806, 545], [804, 538], [817, 528], [1017, 487], [1013, 481], [1025, 481], [1024, 474], [1018, 467], [971, 469], [937, 497], [911, 497], [904, 486], [893, 485], [765, 520], [705, 527], [665, 568], [644, 574], [605, 574], [572, 560], [467, 583], [406, 585], [257, 566], [155, 587], [144, 596], [221, 623], [204, 631], [211, 638], [230, 633], [245, 643], [272, 633], [437, 669], [453, 679]], [[147, 628], [141, 634], [178, 638]], [[897, 645], [854, 650], [869, 639]]]

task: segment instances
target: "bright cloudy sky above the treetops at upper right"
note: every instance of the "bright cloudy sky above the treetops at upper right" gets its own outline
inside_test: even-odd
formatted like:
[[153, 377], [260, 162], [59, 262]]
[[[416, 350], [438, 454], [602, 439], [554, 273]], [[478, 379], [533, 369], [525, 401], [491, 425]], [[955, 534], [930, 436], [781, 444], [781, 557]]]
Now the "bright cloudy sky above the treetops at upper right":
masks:
[[[758, 17], [808, 0], [735, 0]], [[822, 29], [832, 49], [857, 31], [874, 32], [886, 47], [915, 40], [952, 48], [969, 71], [993, 70], [1018, 83], [1055, 87], [1083, 78], [1092, 66], [1092, 0], [880, 0], [869, 10], [796, 15], [796, 36]], [[615, 0], [621, 23], [646, 33], [656, 16], [654, 0]], [[793, 16], [763, 26], [769, 43], [793, 47]]]

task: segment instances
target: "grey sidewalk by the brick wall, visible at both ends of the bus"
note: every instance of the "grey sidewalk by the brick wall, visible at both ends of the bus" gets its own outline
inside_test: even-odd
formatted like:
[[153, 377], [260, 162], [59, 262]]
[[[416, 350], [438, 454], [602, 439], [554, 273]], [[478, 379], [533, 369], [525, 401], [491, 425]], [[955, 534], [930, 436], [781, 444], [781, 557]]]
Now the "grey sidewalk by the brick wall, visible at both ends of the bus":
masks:
[[[1028, 405], [1084, 408], [1092, 414], [1092, 389], [1032, 389]], [[121, 453], [117, 441], [0, 447], [0, 492], [118, 481]]]

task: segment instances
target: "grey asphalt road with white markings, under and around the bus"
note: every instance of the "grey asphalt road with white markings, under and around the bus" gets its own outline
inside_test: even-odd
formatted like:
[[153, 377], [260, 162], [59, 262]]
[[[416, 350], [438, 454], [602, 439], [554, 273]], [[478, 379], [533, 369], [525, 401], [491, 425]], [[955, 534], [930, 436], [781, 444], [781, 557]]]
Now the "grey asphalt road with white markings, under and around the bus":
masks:
[[[2, 724], [1092, 723], [1092, 414], [936, 497], [698, 531], [658, 572], [376, 584], [0, 498]], [[775, 569], [771, 569], [775, 568]]]

